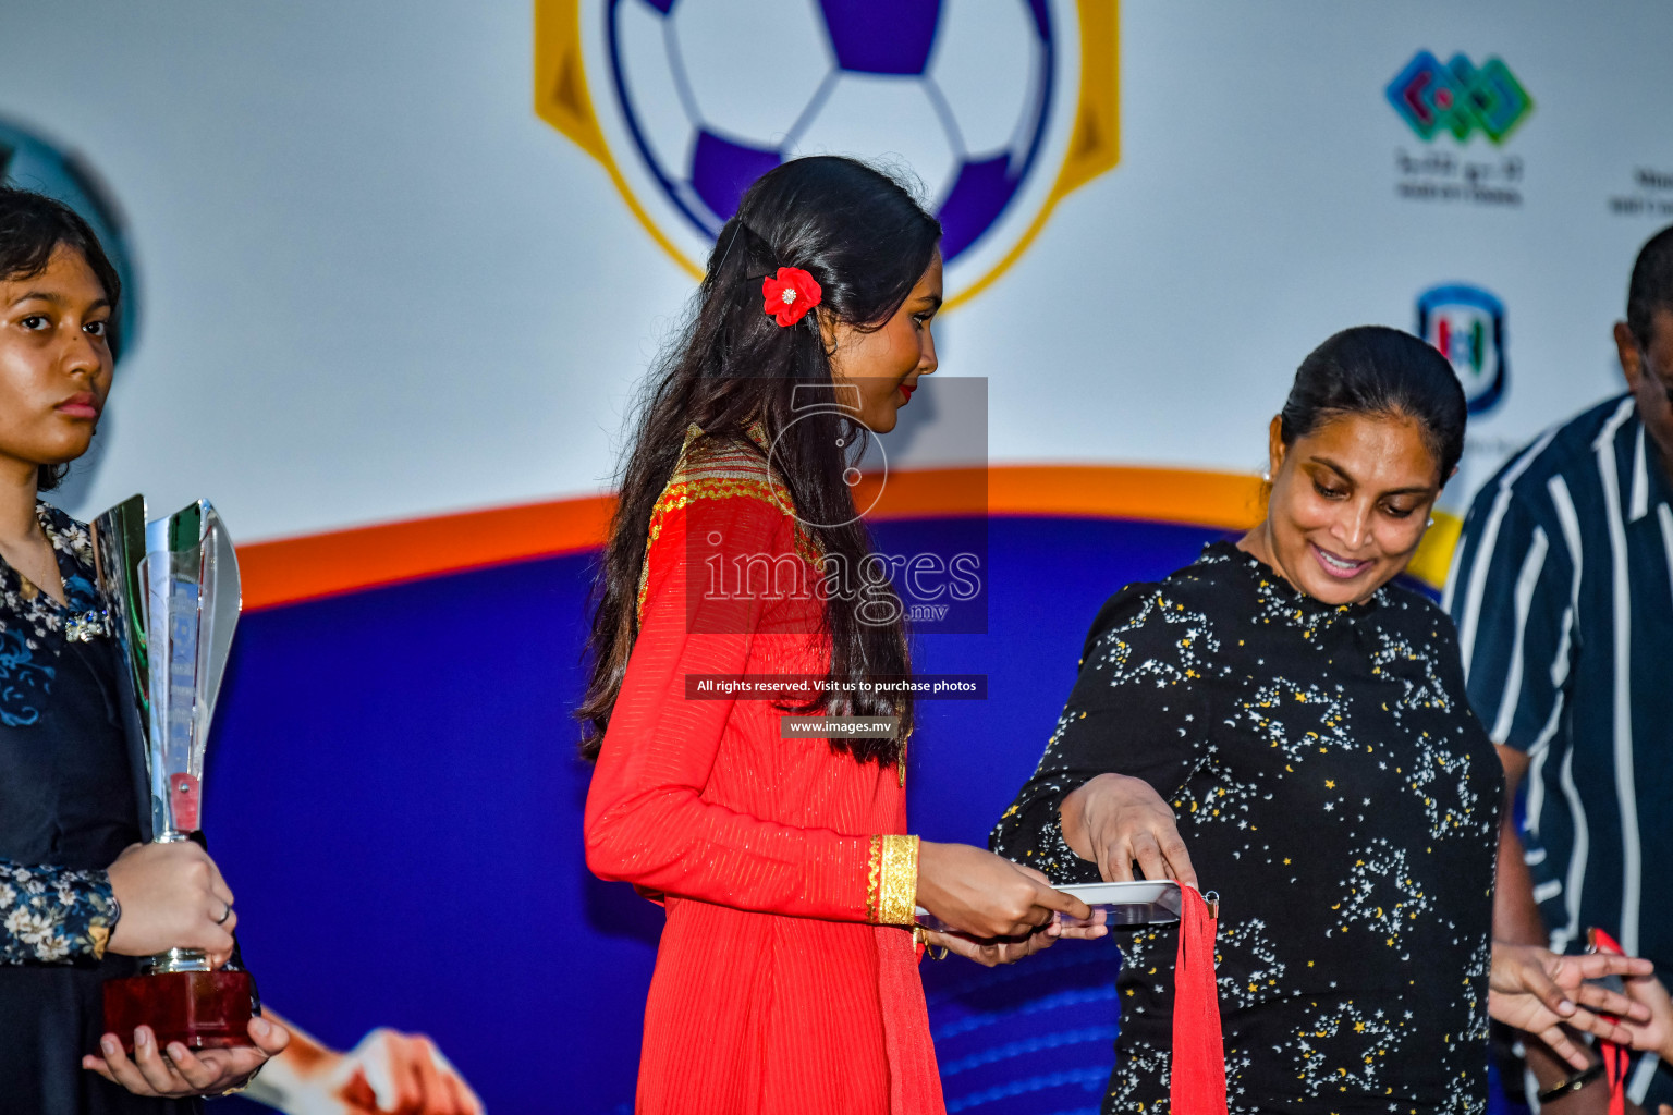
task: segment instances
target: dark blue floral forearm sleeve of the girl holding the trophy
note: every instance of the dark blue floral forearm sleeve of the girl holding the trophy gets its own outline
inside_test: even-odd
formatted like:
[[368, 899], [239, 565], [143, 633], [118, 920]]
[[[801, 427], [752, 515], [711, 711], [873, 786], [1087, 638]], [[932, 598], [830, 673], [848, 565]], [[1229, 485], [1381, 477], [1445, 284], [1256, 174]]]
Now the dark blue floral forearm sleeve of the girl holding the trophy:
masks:
[[104, 871], [0, 859], [0, 963], [102, 960], [120, 916]]

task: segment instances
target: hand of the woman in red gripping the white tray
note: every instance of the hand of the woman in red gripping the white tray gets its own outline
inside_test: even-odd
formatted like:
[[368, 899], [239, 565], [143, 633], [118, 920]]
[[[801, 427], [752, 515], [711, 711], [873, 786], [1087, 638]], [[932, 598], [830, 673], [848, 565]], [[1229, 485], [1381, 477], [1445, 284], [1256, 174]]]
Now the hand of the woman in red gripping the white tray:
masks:
[[918, 906], [954, 931], [984, 939], [1026, 936], [1057, 913], [1092, 918], [1091, 906], [1052, 889], [1039, 871], [969, 844], [930, 841], [918, 841]]

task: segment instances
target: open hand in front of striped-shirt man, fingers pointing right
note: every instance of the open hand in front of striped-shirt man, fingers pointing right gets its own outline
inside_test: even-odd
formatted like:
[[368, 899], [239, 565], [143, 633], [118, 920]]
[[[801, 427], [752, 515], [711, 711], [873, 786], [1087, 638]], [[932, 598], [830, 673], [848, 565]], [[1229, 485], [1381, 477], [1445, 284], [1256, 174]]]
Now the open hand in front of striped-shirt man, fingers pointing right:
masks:
[[[1651, 1021], [1650, 1006], [1586, 981], [1603, 976], [1648, 976], [1653, 971], [1655, 965], [1635, 956], [1608, 953], [1559, 956], [1532, 944], [1494, 941], [1487, 1013], [1534, 1035], [1574, 1068], [1586, 1068], [1591, 1062], [1569, 1040], [1564, 1026], [1631, 1045], [1633, 1031], [1628, 1026]], [[1599, 1015], [1616, 1015], [1621, 1023]]]

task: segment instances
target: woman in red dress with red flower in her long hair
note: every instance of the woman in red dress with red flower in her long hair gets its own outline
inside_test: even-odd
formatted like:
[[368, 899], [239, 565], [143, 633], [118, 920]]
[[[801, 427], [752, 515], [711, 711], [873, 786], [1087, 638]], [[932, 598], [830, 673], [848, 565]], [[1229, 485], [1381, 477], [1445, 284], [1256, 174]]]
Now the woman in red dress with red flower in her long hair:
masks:
[[[1054, 913], [1089, 916], [1039, 873], [908, 836], [912, 702], [860, 690], [910, 660], [845, 470], [935, 371], [939, 244], [863, 164], [768, 172], [639, 413], [581, 715], [587, 864], [668, 913], [642, 1115], [935, 1115], [922, 944], [1004, 963], [1049, 944]], [[761, 675], [835, 695], [726, 685]], [[786, 714], [900, 727], [786, 739]], [[913, 931], [913, 906], [960, 933]]]

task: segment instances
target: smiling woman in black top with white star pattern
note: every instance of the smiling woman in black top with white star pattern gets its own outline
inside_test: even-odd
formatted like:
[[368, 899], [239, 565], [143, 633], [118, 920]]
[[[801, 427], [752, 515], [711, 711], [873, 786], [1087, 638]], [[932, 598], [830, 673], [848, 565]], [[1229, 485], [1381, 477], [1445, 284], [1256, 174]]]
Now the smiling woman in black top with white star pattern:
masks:
[[[1131, 878], [1139, 859], [1220, 893], [1235, 1112], [1486, 1108], [1504, 779], [1445, 612], [1389, 583], [1462, 433], [1462, 391], [1424, 343], [1365, 328], [1320, 346], [1271, 423], [1266, 522], [1104, 605], [994, 829], [1054, 883]], [[1134, 826], [1166, 814], [1156, 794], [1178, 834]], [[1106, 1112], [1166, 1112], [1173, 960], [1171, 926], [1123, 943]], [[1546, 976], [1603, 1001], [1573, 990], [1573, 965], [1506, 955], [1494, 1013], [1554, 1025], [1517, 995], [1561, 1001]]]

